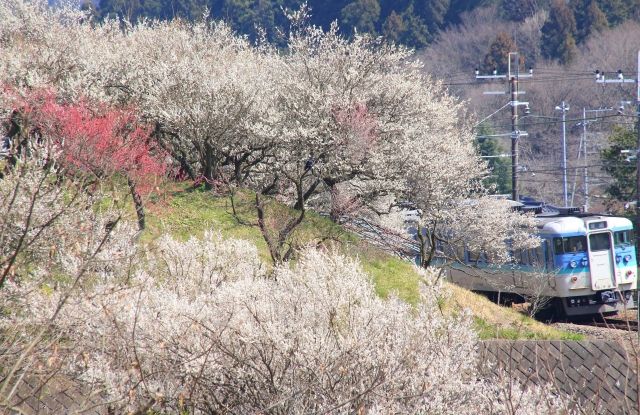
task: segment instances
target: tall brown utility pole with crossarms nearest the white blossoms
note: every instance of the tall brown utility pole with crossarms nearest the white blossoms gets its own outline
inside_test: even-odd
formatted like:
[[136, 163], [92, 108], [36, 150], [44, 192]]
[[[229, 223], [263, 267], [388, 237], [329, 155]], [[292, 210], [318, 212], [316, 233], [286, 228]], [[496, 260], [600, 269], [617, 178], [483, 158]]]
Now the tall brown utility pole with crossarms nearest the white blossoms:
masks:
[[[512, 65], [512, 59], [513, 59], [513, 65]], [[511, 137], [511, 198], [515, 201], [518, 201], [518, 198], [519, 198], [518, 169], [520, 166], [519, 166], [519, 154], [518, 154], [518, 139], [520, 137], [527, 135], [525, 131], [518, 130], [518, 106], [520, 105], [525, 106], [525, 113], [528, 113], [529, 111], [528, 102], [518, 101], [518, 95], [524, 94], [524, 91], [522, 92], [518, 91], [518, 80], [520, 78], [531, 78], [532, 76], [533, 76], [532, 68], [529, 68], [528, 74], [526, 75], [520, 74], [520, 59], [519, 59], [518, 52], [509, 52], [508, 71], [506, 75], [504, 74], [499, 75], [496, 69], [493, 70], [493, 74], [491, 75], [480, 75], [480, 70], [476, 68], [476, 79], [487, 79], [487, 80], [507, 79], [509, 82], [510, 101], [507, 105], [511, 106], [511, 134], [510, 134], [510, 137]], [[484, 92], [485, 95], [498, 95], [498, 94], [504, 94], [504, 93], [505, 93], [504, 90]], [[507, 105], [504, 105], [502, 108], [505, 108]], [[500, 109], [498, 109], [498, 111], [500, 111]], [[496, 114], [498, 111], [494, 112], [491, 115]], [[489, 117], [486, 117], [482, 121], [485, 121]], [[478, 125], [480, 123], [478, 123]]]

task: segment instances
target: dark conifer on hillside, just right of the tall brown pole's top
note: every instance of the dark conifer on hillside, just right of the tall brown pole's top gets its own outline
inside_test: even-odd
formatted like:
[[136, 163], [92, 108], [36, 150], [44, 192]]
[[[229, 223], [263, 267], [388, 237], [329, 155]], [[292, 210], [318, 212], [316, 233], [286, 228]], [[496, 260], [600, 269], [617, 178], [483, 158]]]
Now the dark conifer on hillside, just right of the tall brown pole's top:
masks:
[[549, 18], [542, 26], [540, 51], [548, 59], [557, 59], [566, 64], [576, 54], [576, 19], [564, 0], [554, 0]]

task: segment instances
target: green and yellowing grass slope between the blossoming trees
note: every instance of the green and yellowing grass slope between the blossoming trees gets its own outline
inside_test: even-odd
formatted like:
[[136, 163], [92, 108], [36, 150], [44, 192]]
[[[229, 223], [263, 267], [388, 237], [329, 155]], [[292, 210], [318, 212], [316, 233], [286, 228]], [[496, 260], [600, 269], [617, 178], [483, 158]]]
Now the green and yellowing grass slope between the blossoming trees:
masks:
[[[192, 235], [202, 235], [206, 229], [215, 229], [225, 237], [255, 243], [263, 260], [269, 263], [268, 249], [260, 231], [251, 225], [256, 223], [251, 195], [239, 194], [234, 201], [240, 221], [232, 214], [228, 197], [215, 196], [200, 189], [176, 188], [149, 205], [149, 225], [143, 241], [152, 242], [164, 232], [187, 239]], [[277, 210], [278, 215], [291, 214], [282, 205]], [[359, 258], [363, 268], [371, 275], [380, 296], [396, 293], [411, 304], [419, 301], [420, 277], [412, 264], [372, 247], [330, 220], [310, 212], [296, 233], [296, 242], [305, 245], [317, 244], [321, 240], [324, 245]], [[453, 284], [449, 288], [451, 297], [444, 309], [450, 313], [460, 312], [463, 308], [470, 309], [482, 338], [579, 338], [539, 323], [510, 308], [500, 307]]]

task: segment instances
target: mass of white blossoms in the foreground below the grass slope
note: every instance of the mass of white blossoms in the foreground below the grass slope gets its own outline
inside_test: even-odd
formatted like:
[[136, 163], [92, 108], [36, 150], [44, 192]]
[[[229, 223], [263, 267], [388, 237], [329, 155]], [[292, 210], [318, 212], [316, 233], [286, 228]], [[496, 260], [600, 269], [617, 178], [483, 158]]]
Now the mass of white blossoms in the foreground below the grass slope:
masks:
[[[545, 388], [482, 379], [469, 316], [441, 312], [446, 293], [431, 271], [421, 271], [422, 301], [412, 307], [380, 298], [357, 261], [342, 255], [307, 250], [267, 275], [246, 248], [214, 233], [197, 242], [165, 237], [148, 263], [155, 265], [128, 284], [103, 281], [69, 299], [52, 326], [64, 339], [55, 352], [67, 355], [62, 370], [129, 411], [562, 408]], [[31, 295], [25, 323], [42, 324], [61, 294]]]

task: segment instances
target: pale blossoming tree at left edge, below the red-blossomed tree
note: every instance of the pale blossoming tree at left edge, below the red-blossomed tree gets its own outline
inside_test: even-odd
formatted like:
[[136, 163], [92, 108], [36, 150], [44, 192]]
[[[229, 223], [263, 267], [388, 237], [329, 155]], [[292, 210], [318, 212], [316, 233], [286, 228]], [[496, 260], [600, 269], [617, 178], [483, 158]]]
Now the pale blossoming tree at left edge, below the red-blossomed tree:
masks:
[[[5, 171], [0, 179], [3, 412], [14, 411], [16, 391], [24, 380], [46, 388], [67, 363], [68, 356], [53, 350], [61, 339], [52, 330], [67, 303], [89, 282], [128, 277], [136, 230], [122, 222], [121, 212], [109, 203], [98, 209], [104, 195], [97, 189], [87, 194], [88, 189], [81, 178], [63, 179], [32, 160]], [[49, 314], [39, 324], [23, 324], [28, 305], [52, 292], [56, 295]]]

